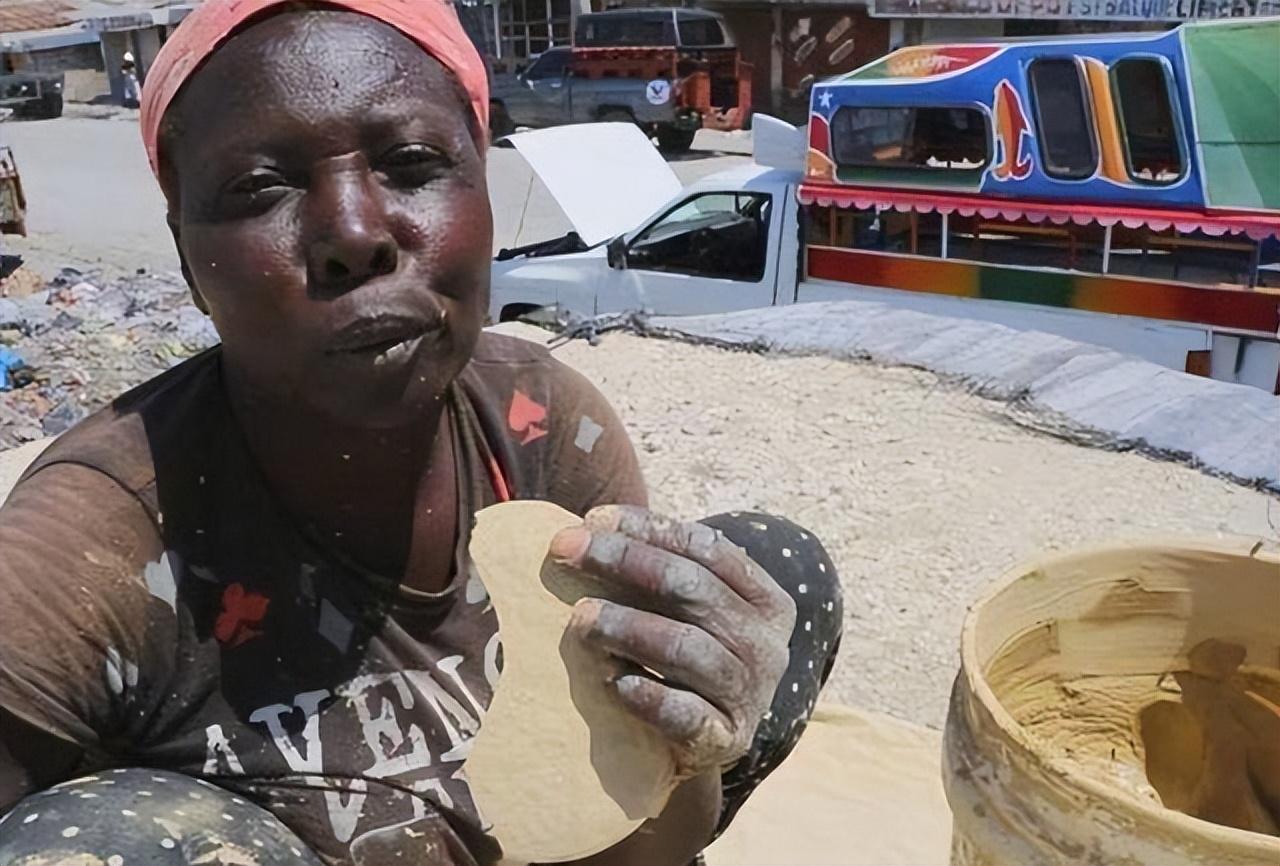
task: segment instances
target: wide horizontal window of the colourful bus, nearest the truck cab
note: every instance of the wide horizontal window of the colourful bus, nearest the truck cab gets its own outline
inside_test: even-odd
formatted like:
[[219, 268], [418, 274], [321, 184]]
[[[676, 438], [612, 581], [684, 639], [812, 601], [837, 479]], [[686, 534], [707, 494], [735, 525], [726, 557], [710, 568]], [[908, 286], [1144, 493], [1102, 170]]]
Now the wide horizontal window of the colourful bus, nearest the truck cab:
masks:
[[978, 109], [844, 107], [831, 128], [840, 168], [978, 171], [989, 155]]

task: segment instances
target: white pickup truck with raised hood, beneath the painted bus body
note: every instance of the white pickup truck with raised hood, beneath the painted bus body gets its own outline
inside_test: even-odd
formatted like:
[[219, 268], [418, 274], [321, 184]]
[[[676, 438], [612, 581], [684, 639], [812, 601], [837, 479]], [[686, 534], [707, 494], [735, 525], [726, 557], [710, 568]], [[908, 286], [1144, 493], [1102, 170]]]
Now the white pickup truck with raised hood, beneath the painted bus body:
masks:
[[[575, 234], [503, 251], [493, 265], [490, 316], [536, 308], [579, 315], [731, 312], [814, 301], [876, 301], [920, 312], [997, 322], [1102, 345], [1183, 370], [1189, 352], [1224, 336], [1194, 322], [1087, 312], [933, 292], [905, 292], [810, 276], [804, 206], [806, 133], [756, 115], [754, 160], [682, 187], [643, 134], [625, 124], [558, 127], [512, 143], [556, 197]], [[887, 216], [887, 215], [886, 215]], [[1037, 279], [1029, 271], [1027, 279]], [[1275, 335], [1236, 340], [1234, 363], [1213, 377], [1276, 382]], [[1257, 380], [1257, 381], [1254, 381]]]

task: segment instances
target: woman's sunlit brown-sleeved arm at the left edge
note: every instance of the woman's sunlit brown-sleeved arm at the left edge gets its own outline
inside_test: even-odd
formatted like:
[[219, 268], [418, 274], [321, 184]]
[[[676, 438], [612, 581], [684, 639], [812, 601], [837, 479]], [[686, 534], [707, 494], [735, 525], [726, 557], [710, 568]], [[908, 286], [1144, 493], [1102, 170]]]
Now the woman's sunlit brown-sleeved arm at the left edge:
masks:
[[106, 674], [146, 666], [160, 551], [142, 505], [82, 466], [41, 469], [0, 508], [0, 814], [70, 778], [116, 716]]

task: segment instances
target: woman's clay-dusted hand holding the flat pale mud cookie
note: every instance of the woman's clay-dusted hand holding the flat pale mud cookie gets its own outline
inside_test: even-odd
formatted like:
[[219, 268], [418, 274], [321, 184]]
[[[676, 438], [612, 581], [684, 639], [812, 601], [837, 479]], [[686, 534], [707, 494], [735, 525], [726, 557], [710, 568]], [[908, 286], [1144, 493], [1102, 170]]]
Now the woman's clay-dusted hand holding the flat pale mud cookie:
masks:
[[718, 531], [643, 508], [591, 510], [552, 555], [618, 600], [579, 601], [571, 633], [632, 664], [618, 698], [667, 738], [677, 775], [741, 759], [787, 666], [791, 597]]

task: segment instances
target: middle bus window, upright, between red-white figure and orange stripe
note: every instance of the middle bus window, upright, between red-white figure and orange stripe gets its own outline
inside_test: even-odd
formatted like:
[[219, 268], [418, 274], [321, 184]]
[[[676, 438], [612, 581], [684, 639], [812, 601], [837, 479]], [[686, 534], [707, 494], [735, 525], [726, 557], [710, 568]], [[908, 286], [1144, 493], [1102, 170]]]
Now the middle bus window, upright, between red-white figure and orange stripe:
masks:
[[1044, 174], [1083, 180], [1098, 168], [1084, 75], [1073, 58], [1042, 58], [1028, 69]]

